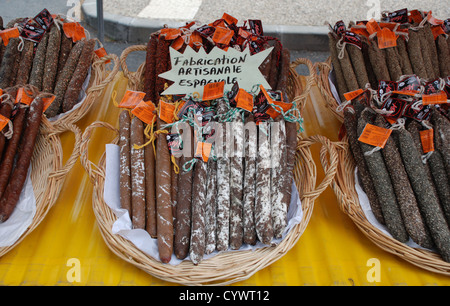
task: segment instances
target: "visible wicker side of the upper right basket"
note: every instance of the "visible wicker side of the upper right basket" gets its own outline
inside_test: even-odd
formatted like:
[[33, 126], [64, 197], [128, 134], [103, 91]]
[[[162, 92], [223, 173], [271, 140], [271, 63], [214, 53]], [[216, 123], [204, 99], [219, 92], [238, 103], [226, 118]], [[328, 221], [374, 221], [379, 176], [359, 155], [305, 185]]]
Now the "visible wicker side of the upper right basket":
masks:
[[338, 111], [339, 102], [334, 98], [331, 89], [328, 76], [332, 70], [331, 58], [329, 57], [325, 62], [317, 62], [314, 64], [314, 70], [318, 71], [316, 74], [317, 87], [322, 94], [327, 108], [333, 113], [334, 116], [340, 121], [344, 121], [342, 112]]

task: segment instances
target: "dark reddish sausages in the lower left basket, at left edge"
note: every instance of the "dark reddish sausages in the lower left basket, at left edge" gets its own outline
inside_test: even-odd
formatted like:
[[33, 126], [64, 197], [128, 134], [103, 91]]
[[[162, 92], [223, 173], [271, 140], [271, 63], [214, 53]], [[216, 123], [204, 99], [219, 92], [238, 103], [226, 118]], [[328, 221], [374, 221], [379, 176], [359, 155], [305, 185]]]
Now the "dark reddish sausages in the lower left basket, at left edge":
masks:
[[0, 132], [0, 222], [9, 219], [19, 201], [48, 97], [30, 90], [29, 105], [15, 103], [17, 90], [5, 89], [0, 104], [0, 114], [11, 122]]

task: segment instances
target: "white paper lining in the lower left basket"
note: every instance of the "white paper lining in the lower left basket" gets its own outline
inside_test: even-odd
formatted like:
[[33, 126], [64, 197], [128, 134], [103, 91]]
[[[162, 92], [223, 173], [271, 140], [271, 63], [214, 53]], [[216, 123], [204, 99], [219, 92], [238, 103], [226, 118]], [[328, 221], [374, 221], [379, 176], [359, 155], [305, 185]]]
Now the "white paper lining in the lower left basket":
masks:
[[5, 222], [0, 223], [0, 247], [13, 245], [22, 236], [36, 214], [36, 199], [30, 178], [31, 165], [17, 206]]

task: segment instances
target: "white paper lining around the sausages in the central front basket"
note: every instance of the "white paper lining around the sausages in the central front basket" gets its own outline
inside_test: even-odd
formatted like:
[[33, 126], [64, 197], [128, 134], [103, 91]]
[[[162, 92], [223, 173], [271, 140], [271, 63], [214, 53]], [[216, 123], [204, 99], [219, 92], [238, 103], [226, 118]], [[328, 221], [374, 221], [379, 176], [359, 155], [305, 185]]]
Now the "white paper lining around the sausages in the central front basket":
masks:
[[[131, 219], [128, 211], [120, 208], [120, 183], [119, 183], [119, 147], [113, 144], [106, 145], [106, 169], [105, 169], [105, 185], [104, 185], [104, 200], [105, 203], [113, 210], [117, 216], [117, 220], [112, 227], [112, 233], [120, 235], [125, 239], [131, 241], [138, 249], [151, 256], [156, 260], [159, 259], [157, 239], [150, 237], [150, 235], [142, 229], [131, 229]], [[290, 230], [301, 222], [303, 218], [302, 206], [299, 194], [295, 184], [292, 184], [292, 197], [288, 211], [288, 225], [283, 233], [282, 238], [273, 240], [274, 244], [280, 243]], [[243, 245], [239, 250], [228, 250], [227, 252], [238, 252], [243, 250], [255, 250], [266, 247], [262, 243], [257, 243], [255, 246]], [[218, 252], [213, 252], [205, 255], [204, 259], [211, 258], [217, 255]], [[189, 260], [189, 257], [185, 260]], [[169, 264], [177, 265], [181, 263], [172, 255]]]

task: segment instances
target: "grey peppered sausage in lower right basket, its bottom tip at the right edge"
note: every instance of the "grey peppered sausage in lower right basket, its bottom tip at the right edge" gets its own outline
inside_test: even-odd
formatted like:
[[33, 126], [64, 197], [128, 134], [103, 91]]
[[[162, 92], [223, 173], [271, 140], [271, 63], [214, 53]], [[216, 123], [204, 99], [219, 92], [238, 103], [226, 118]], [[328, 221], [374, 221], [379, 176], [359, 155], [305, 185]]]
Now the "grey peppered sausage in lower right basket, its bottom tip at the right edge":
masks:
[[434, 193], [432, 183], [425, 174], [420, 153], [414, 145], [411, 134], [406, 129], [395, 130], [392, 133], [399, 144], [403, 164], [423, 218], [430, 229], [430, 235], [442, 259], [449, 262], [450, 230]]

